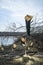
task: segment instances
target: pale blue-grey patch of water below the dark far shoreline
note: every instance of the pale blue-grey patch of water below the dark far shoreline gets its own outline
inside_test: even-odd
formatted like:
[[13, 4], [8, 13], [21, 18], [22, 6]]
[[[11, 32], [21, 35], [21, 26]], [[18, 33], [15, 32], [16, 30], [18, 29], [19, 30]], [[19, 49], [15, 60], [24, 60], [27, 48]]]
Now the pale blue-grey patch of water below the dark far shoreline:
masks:
[[8, 46], [10, 44], [13, 44], [13, 42], [16, 40], [17, 38], [14, 36], [1, 36], [0, 37], [0, 45], [5, 45]]

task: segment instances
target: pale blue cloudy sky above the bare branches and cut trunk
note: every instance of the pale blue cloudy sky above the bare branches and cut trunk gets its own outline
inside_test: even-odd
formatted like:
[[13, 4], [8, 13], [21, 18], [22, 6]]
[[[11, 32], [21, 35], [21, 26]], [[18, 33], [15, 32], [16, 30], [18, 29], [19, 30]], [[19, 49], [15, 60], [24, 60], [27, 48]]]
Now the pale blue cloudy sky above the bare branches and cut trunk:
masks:
[[25, 15], [35, 15], [43, 10], [43, 0], [0, 0], [0, 31], [11, 23], [25, 25]]

